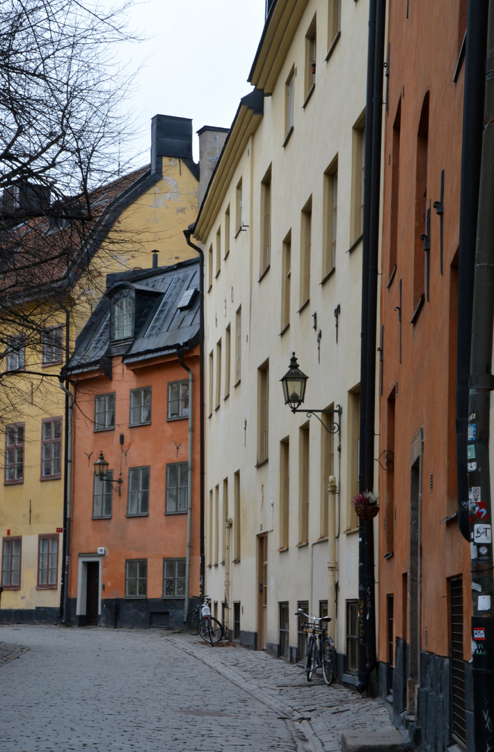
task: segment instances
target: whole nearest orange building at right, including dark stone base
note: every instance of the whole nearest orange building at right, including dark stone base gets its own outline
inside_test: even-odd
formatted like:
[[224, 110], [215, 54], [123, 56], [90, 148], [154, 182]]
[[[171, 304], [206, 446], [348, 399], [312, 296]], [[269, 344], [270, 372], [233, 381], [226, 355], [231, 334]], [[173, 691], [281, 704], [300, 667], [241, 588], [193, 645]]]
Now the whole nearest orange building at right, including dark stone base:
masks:
[[457, 523], [456, 330], [466, 2], [388, 5], [383, 147], [380, 693], [465, 744], [470, 548]]

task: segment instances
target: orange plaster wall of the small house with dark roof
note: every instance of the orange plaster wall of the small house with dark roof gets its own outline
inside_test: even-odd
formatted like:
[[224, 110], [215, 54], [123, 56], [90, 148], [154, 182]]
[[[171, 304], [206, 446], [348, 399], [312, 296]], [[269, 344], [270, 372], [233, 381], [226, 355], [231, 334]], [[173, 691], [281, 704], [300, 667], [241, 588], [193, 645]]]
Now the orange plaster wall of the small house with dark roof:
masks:
[[[192, 368], [193, 432], [192, 453], [192, 556], [190, 593], [199, 593], [199, 348], [184, 358]], [[102, 599], [123, 598], [125, 560], [147, 559], [147, 597], [162, 596], [162, 559], [186, 556], [186, 514], [165, 514], [167, 462], [188, 459], [189, 421], [166, 420], [168, 381], [188, 378], [175, 356], [150, 365], [148, 362], [124, 365], [113, 360], [113, 379], [98, 374], [80, 376], [74, 408], [73, 485], [71, 565], [69, 597], [77, 596], [77, 558], [79, 553], [95, 553], [105, 546], [102, 559]], [[132, 368], [132, 370], [131, 370]], [[152, 387], [151, 423], [129, 427], [129, 391]], [[96, 394], [116, 393], [116, 427], [94, 432]], [[123, 453], [120, 452], [123, 434]], [[176, 444], [179, 445], [177, 450]], [[122, 495], [113, 493], [112, 517], [92, 520], [93, 462], [103, 451], [109, 468], [118, 478], [122, 462]], [[88, 455], [91, 454], [90, 457]], [[126, 517], [129, 468], [150, 465], [150, 503], [147, 517]]]

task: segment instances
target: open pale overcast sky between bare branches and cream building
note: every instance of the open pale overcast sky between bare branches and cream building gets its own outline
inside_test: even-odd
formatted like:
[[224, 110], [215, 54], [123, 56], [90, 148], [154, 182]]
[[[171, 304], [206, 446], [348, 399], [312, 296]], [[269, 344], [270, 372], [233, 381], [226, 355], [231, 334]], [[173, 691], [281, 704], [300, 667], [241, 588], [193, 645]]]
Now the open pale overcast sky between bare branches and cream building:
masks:
[[[132, 152], [149, 160], [151, 118], [192, 117], [192, 129], [229, 128], [242, 96], [264, 26], [265, 0], [144, 0], [129, 26], [147, 37], [120, 56], [142, 65], [129, 105], [137, 129]], [[123, 54], [122, 54], [123, 53]], [[123, 147], [124, 151], [124, 147]], [[130, 155], [128, 155], [130, 156]], [[194, 159], [199, 141], [194, 135]]]

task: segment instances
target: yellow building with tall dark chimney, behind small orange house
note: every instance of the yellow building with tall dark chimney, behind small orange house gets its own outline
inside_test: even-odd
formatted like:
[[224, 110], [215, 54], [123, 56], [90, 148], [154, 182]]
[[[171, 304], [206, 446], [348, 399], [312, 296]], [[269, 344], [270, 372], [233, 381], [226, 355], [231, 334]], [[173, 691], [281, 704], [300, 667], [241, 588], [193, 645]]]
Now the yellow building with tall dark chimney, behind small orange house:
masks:
[[[53, 296], [25, 294], [25, 311], [39, 338], [4, 322], [3, 368], [10, 390], [2, 405], [4, 483], [0, 487], [2, 620], [56, 623], [62, 613], [62, 572], [71, 482], [65, 478], [69, 396], [59, 373], [75, 338], [114, 271], [170, 265], [194, 256], [183, 227], [197, 215], [199, 165], [192, 161], [192, 121], [156, 115], [150, 167], [98, 189], [95, 221]], [[50, 241], [50, 231], [46, 233]], [[56, 274], [54, 275], [56, 277]], [[2, 324], [0, 323], [0, 326]], [[76, 408], [77, 409], [77, 406]], [[74, 458], [75, 459], [75, 458]], [[77, 462], [94, 462], [77, 457]], [[70, 466], [70, 465], [69, 465]], [[69, 472], [70, 475], [70, 472]]]

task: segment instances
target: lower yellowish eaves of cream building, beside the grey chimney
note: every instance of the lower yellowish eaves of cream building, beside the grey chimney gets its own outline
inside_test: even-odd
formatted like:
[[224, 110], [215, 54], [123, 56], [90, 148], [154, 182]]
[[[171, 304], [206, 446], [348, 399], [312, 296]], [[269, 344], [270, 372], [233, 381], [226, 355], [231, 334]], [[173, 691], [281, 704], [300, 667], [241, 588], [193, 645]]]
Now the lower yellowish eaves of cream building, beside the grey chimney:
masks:
[[194, 225], [194, 237], [205, 243], [217, 217], [217, 211], [232, 182], [233, 174], [244, 153], [247, 142], [259, 127], [264, 114], [264, 92], [253, 89], [238, 105], [232, 127], [226, 137], [208, 190]]

